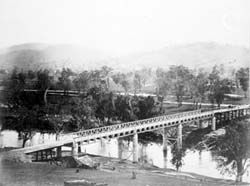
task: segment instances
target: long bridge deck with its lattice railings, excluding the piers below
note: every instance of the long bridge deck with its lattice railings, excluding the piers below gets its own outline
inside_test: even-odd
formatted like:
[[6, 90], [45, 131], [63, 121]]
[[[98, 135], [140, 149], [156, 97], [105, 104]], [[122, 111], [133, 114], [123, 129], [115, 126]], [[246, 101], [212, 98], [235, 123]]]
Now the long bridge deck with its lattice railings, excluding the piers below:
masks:
[[39, 144], [31, 147], [25, 147], [19, 150], [23, 151], [26, 154], [29, 154], [38, 151], [53, 149], [60, 146], [70, 145], [73, 144], [74, 142], [88, 143], [90, 141], [99, 140], [101, 138], [118, 138], [122, 136], [129, 136], [135, 133], [143, 133], [166, 127], [174, 127], [179, 125], [180, 123], [187, 124], [190, 123], [191, 121], [209, 119], [218, 113], [225, 113], [225, 112], [238, 111], [244, 109], [250, 109], [250, 105], [242, 105], [233, 108], [218, 109], [207, 112], [201, 112], [201, 110], [195, 110], [195, 111], [182, 112], [172, 115], [164, 115], [144, 120], [138, 120], [112, 126], [69, 133], [61, 136], [59, 141]]

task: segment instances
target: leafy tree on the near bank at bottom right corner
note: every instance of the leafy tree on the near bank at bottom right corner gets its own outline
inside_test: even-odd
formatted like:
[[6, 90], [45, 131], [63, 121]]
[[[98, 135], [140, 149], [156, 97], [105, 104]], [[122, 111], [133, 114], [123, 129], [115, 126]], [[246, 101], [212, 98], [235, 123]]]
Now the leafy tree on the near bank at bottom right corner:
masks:
[[209, 147], [222, 173], [235, 174], [239, 182], [250, 166], [249, 121], [231, 121], [225, 130], [225, 135], [214, 139], [213, 143], [210, 141]]

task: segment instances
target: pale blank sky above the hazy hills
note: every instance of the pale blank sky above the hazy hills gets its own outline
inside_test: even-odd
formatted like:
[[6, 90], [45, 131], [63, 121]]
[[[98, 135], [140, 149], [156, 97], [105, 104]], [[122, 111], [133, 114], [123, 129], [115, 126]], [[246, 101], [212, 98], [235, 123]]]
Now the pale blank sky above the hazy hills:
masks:
[[250, 47], [250, 1], [0, 0], [0, 48], [29, 42], [114, 55], [193, 42]]

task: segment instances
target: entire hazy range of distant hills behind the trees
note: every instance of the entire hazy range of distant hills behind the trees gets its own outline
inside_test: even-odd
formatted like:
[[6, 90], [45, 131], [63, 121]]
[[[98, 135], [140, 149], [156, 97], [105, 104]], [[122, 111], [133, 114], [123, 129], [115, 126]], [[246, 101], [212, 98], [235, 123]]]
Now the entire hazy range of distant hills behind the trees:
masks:
[[250, 64], [250, 50], [206, 42], [168, 46], [152, 52], [116, 58], [76, 45], [26, 43], [0, 50], [0, 68], [4, 69], [17, 66], [23, 69], [69, 67], [82, 70], [108, 65], [117, 70], [128, 71], [142, 67], [168, 68], [170, 65], [211, 68], [216, 64], [224, 64], [227, 68], [247, 66]]

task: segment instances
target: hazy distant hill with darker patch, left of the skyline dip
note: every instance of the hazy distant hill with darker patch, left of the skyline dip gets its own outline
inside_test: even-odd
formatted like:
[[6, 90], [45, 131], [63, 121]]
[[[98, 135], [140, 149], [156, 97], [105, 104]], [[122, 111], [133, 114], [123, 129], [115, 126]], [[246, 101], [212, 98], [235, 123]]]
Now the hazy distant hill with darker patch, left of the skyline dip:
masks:
[[[0, 51], [0, 68], [22, 69], [69, 67], [74, 70], [98, 68], [108, 57], [97, 50], [76, 45], [27, 43]], [[102, 65], [101, 65], [102, 66]]]

